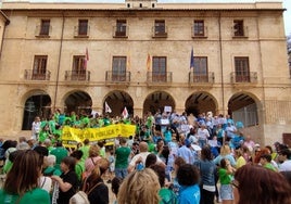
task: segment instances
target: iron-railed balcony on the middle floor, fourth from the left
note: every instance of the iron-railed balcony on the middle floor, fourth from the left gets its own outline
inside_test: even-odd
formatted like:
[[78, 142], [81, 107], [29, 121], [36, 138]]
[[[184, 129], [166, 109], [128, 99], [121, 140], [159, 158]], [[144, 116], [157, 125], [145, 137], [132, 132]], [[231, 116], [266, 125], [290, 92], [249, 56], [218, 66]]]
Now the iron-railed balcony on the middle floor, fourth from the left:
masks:
[[173, 81], [172, 72], [148, 72], [147, 84], [149, 87], [167, 87]]

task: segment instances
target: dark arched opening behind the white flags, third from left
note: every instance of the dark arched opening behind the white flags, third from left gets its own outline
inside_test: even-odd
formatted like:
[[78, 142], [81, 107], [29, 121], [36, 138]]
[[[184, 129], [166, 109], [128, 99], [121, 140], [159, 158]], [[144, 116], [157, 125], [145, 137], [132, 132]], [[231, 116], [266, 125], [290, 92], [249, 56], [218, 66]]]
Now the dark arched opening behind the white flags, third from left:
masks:
[[134, 116], [134, 101], [127, 92], [119, 90], [111, 91], [103, 102], [103, 114], [105, 114], [105, 102], [112, 111], [111, 113], [107, 112], [110, 116], [119, 116], [124, 107], [127, 109], [130, 116]]

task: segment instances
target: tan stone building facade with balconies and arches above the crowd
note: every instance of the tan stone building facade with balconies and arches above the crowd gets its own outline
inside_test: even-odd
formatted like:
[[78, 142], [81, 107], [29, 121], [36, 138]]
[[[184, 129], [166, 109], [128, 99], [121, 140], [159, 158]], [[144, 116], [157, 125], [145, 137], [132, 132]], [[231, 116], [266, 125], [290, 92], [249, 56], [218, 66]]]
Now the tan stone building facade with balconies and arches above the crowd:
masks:
[[291, 132], [280, 2], [2, 1], [0, 137], [36, 115], [126, 106], [230, 114], [261, 143]]

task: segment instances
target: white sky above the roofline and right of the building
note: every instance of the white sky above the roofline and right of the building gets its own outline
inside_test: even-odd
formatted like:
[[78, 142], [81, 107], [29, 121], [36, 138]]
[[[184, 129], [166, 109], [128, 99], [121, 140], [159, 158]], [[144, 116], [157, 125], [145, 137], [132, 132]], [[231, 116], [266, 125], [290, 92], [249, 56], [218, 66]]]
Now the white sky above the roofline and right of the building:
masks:
[[[157, 2], [255, 2], [280, 1], [287, 11], [283, 13], [284, 33], [291, 35], [291, 0], [157, 0]], [[0, 0], [1, 2], [1, 0]], [[30, 0], [30, 2], [125, 2], [125, 0]]]

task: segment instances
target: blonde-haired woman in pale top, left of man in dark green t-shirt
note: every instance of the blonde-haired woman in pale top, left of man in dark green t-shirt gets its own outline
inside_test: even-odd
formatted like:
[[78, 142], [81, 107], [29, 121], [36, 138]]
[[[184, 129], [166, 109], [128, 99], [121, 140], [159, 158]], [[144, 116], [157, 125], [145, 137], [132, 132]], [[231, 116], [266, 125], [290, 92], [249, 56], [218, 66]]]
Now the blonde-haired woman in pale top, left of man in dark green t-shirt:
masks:
[[87, 178], [94, 169], [97, 162], [101, 158], [99, 155], [100, 148], [93, 144], [89, 149], [89, 157], [85, 161], [85, 171], [83, 174], [83, 180]]

